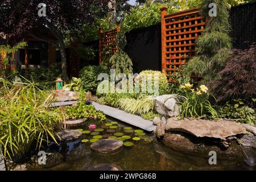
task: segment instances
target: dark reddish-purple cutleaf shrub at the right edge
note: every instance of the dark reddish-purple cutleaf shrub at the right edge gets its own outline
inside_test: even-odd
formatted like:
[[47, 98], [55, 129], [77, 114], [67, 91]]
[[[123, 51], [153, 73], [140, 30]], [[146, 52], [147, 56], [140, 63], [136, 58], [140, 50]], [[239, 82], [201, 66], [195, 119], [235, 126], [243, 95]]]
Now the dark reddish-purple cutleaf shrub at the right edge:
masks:
[[250, 100], [256, 97], [256, 46], [234, 51], [228, 59], [228, 64], [218, 75], [221, 79], [209, 83], [217, 101], [242, 98], [253, 106]]

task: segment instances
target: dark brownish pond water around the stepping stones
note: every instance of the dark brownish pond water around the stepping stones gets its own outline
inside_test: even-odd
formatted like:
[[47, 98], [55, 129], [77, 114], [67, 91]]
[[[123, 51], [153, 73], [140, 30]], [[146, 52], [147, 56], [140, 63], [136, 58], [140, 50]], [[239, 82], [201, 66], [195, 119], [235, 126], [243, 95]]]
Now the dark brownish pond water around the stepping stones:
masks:
[[[113, 122], [109, 120], [107, 123]], [[116, 121], [114, 121], [116, 122]], [[98, 131], [98, 135], [110, 134], [114, 136], [114, 133], [123, 133], [128, 135], [131, 139], [125, 139], [123, 142], [133, 142], [133, 146], [123, 146], [121, 151], [114, 154], [98, 154], [90, 149], [90, 141], [83, 143], [82, 139], [93, 139], [91, 134], [83, 134], [81, 139], [72, 142], [61, 143], [57, 146], [55, 143], [51, 143], [45, 151], [47, 152], [60, 152], [64, 156], [64, 162], [51, 168], [44, 168], [38, 164], [28, 167], [30, 170], [88, 170], [99, 164], [115, 164], [123, 170], [256, 170], [254, 167], [249, 167], [245, 163], [245, 158], [234, 159], [220, 159], [217, 160], [217, 165], [209, 165], [209, 157], [197, 155], [197, 154], [183, 154], [180, 151], [171, 150], [164, 146], [164, 144], [155, 139], [154, 134], [144, 132], [131, 132], [130, 129], [124, 129], [124, 127], [131, 127], [124, 125], [123, 123], [114, 123], [111, 126], [112, 133], [109, 130], [110, 126], [105, 126], [104, 123], [97, 125], [97, 129], [101, 126], [104, 127], [104, 131]], [[88, 125], [76, 127], [75, 129], [88, 130]], [[130, 130], [129, 132], [125, 130]], [[133, 130], [138, 130], [133, 127]], [[84, 132], [86, 133], [86, 132]], [[115, 134], [118, 135], [118, 134]], [[119, 134], [121, 135], [121, 134]], [[104, 137], [108, 137], [104, 135]], [[118, 136], [119, 137], [119, 136]], [[139, 137], [141, 140], [135, 141], [134, 137]], [[101, 138], [101, 137], [94, 137]], [[129, 138], [129, 137], [125, 137]], [[121, 139], [121, 138], [119, 138]], [[123, 139], [122, 139], [123, 140]], [[208, 155], [208, 154], [207, 154]], [[207, 156], [206, 155], [206, 156]]]

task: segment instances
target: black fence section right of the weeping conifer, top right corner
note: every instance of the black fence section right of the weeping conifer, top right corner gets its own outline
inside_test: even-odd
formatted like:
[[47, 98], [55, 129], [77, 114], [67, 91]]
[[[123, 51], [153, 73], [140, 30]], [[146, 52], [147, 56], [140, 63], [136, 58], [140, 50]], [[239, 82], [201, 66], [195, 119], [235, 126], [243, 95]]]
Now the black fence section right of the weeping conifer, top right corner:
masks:
[[248, 48], [256, 42], [256, 2], [232, 7], [230, 21], [234, 48]]

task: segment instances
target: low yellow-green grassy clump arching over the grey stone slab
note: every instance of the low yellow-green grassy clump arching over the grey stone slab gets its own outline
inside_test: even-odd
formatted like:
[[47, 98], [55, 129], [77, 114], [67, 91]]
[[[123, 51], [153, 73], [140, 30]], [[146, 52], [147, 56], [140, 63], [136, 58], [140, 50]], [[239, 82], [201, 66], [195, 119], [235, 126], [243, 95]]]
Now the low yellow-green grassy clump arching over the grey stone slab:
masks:
[[127, 113], [141, 115], [154, 110], [154, 98], [139, 97], [137, 100], [134, 98], [121, 98], [119, 106]]

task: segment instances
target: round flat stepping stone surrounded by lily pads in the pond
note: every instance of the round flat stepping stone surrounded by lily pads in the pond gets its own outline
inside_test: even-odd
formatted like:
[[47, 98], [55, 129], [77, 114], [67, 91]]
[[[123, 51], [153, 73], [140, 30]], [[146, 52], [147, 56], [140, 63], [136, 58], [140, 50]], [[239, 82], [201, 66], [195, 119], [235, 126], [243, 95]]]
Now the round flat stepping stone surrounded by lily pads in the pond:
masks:
[[108, 154], [111, 152], [121, 150], [122, 146], [123, 146], [123, 142], [121, 140], [101, 139], [91, 144], [90, 148], [92, 148], [93, 151], [96, 151], [102, 154]]

